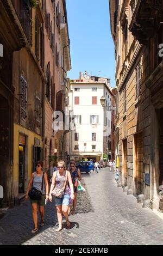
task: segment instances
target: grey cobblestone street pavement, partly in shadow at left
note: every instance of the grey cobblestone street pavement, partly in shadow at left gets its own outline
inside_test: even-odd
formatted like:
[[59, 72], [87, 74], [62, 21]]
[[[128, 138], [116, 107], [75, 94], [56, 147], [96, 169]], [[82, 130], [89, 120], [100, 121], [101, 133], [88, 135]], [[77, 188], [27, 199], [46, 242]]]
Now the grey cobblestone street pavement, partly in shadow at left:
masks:
[[10, 209], [0, 220], [0, 245], [162, 245], [163, 221], [143, 209], [134, 196], [117, 188], [108, 168], [84, 174], [85, 192], [78, 193], [71, 227], [56, 233], [57, 215], [46, 205], [45, 225], [35, 234], [29, 201]]

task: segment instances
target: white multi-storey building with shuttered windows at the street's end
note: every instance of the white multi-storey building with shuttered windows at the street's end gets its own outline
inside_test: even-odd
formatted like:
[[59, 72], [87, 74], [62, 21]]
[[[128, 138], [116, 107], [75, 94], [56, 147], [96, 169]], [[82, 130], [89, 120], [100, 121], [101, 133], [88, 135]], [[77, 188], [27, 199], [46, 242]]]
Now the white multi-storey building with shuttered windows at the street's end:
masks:
[[[78, 160], [111, 158], [111, 92], [108, 78], [90, 77], [80, 72], [71, 83], [69, 110], [72, 112], [70, 158]], [[105, 96], [105, 106], [101, 97]]]

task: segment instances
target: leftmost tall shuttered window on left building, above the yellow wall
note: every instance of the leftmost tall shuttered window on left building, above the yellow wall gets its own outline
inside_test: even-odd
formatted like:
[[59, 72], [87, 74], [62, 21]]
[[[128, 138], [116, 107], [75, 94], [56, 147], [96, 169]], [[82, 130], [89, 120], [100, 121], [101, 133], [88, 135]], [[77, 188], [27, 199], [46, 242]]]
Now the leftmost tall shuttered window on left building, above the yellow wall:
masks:
[[27, 81], [21, 77], [21, 118], [27, 118]]

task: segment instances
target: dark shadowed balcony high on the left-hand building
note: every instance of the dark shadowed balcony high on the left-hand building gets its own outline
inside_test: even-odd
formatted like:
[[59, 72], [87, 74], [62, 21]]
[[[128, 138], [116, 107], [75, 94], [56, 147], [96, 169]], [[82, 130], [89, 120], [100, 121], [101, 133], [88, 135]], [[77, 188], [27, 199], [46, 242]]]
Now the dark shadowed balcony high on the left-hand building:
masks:
[[28, 5], [25, 1], [20, 0], [12, 0], [12, 4], [16, 10], [18, 19], [20, 20], [21, 26], [23, 28], [24, 33], [26, 34], [26, 38], [29, 44], [32, 44], [32, 38], [30, 35], [30, 11]]

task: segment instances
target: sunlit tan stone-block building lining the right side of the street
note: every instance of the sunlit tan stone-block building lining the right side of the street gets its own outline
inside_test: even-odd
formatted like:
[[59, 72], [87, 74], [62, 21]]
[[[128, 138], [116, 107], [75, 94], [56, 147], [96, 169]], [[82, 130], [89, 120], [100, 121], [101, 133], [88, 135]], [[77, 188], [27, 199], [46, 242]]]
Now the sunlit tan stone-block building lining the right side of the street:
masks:
[[162, 208], [162, 1], [109, 1], [120, 181]]

